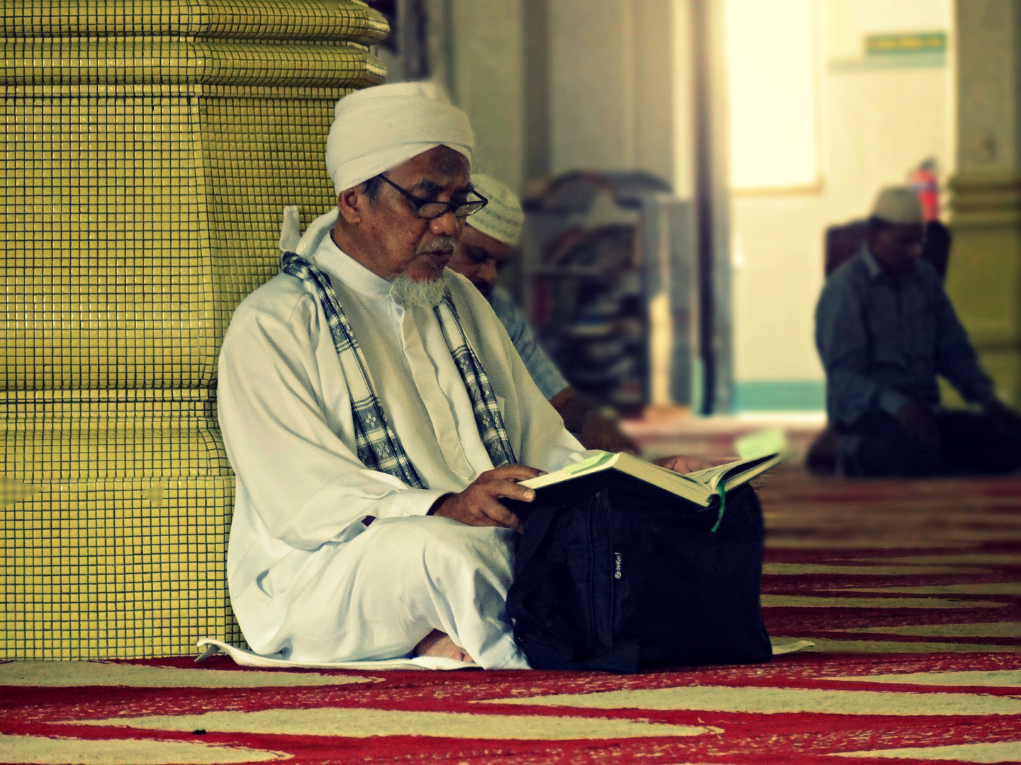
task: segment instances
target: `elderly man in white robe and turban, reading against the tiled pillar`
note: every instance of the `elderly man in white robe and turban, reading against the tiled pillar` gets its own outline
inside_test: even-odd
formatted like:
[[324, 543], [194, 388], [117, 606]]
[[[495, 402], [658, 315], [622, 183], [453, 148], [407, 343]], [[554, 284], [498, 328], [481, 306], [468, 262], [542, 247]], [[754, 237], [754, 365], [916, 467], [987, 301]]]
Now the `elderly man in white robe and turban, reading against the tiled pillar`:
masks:
[[484, 205], [472, 142], [427, 84], [342, 98], [337, 207], [231, 320], [228, 580], [258, 653], [527, 666], [504, 610], [521, 521], [500, 499], [531, 501], [518, 481], [584, 452], [489, 304], [444, 270]]

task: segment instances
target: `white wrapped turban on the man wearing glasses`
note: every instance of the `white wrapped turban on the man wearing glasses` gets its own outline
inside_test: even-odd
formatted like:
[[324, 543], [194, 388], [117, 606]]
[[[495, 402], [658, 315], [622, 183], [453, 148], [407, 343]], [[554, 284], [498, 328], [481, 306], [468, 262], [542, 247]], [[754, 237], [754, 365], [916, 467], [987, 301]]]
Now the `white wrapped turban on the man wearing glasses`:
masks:
[[472, 163], [468, 115], [434, 83], [377, 85], [344, 96], [326, 142], [326, 167], [339, 195], [435, 146]]

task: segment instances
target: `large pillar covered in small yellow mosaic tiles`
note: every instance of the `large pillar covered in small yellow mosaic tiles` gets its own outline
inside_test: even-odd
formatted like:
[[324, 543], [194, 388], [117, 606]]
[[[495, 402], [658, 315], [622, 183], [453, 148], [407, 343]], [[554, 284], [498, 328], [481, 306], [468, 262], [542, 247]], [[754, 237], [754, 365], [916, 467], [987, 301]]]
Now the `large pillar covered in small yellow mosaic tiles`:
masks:
[[2, 658], [240, 643], [220, 341], [277, 271], [281, 208], [334, 204], [333, 107], [382, 80], [386, 22], [355, 0], [23, 0], [2, 23]]

